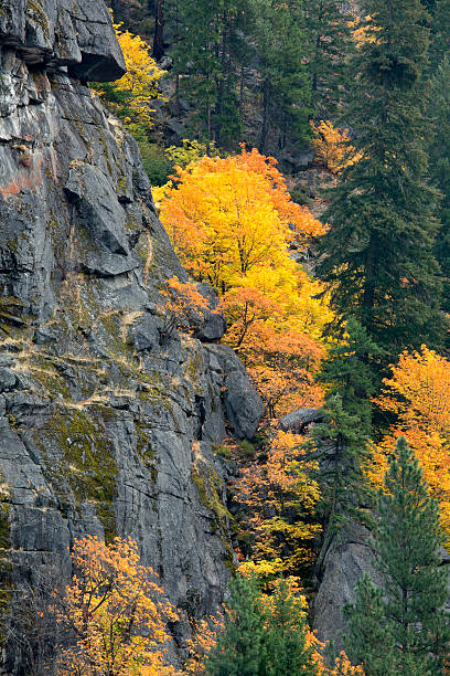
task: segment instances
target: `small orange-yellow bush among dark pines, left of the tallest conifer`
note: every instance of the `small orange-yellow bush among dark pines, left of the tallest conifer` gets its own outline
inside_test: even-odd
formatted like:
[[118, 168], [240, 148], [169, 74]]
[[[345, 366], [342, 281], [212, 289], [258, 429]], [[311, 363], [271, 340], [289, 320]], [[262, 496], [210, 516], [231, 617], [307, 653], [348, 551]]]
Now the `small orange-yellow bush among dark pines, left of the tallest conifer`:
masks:
[[361, 154], [357, 154], [351, 145], [349, 130], [336, 129], [330, 120], [321, 120], [318, 126], [310, 123], [317, 138], [312, 139], [311, 144], [315, 149], [319, 159], [330, 169], [332, 173], [341, 173], [345, 167], [354, 165], [361, 159]]

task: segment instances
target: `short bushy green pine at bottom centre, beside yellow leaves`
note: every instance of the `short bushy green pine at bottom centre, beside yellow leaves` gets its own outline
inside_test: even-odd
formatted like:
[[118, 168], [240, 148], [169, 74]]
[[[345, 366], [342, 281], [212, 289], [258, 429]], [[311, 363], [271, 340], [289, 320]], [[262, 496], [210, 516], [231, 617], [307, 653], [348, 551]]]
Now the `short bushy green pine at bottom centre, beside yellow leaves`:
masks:
[[206, 662], [206, 676], [315, 676], [307, 647], [304, 613], [280, 581], [270, 610], [255, 579], [240, 575], [229, 584], [225, 627]]

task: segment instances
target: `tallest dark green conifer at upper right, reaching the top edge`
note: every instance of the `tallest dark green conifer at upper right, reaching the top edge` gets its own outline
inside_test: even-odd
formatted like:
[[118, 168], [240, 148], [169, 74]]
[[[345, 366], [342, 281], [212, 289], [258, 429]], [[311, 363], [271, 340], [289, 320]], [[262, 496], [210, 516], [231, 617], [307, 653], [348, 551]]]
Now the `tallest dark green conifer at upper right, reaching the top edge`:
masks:
[[406, 348], [439, 347], [446, 320], [432, 253], [437, 197], [425, 180], [426, 13], [419, 0], [366, 0], [364, 14], [379, 30], [352, 59], [347, 108], [363, 157], [332, 191], [318, 273], [336, 321], [354, 316], [383, 348], [383, 370]]

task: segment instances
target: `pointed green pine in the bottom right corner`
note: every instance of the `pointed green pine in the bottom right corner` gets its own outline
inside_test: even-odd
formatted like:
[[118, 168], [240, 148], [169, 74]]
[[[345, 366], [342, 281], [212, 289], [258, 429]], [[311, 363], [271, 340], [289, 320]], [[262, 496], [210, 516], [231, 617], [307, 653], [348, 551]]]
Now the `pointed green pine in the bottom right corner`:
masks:
[[[360, 582], [356, 601], [345, 611], [349, 653], [352, 659], [363, 663], [367, 676], [442, 674], [450, 630], [442, 610], [448, 596], [448, 571], [440, 566], [439, 508], [404, 437], [397, 442], [390, 461], [378, 513], [375, 551], [385, 580], [383, 601], [367, 580]], [[377, 670], [376, 652], [385, 648], [390, 666]], [[371, 664], [366, 665], [366, 661]]]

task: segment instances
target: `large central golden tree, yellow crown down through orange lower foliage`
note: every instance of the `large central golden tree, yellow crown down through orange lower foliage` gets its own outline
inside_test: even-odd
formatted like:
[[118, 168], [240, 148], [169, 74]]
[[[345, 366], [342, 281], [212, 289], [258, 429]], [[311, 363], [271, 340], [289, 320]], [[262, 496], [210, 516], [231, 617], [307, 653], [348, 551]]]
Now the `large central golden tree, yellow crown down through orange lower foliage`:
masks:
[[246, 363], [270, 416], [320, 405], [313, 371], [331, 319], [322, 291], [289, 255], [325, 228], [296, 204], [276, 160], [257, 150], [178, 168], [160, 202], [172, 243], [193, 277], [222, 296], [225, 341]]

